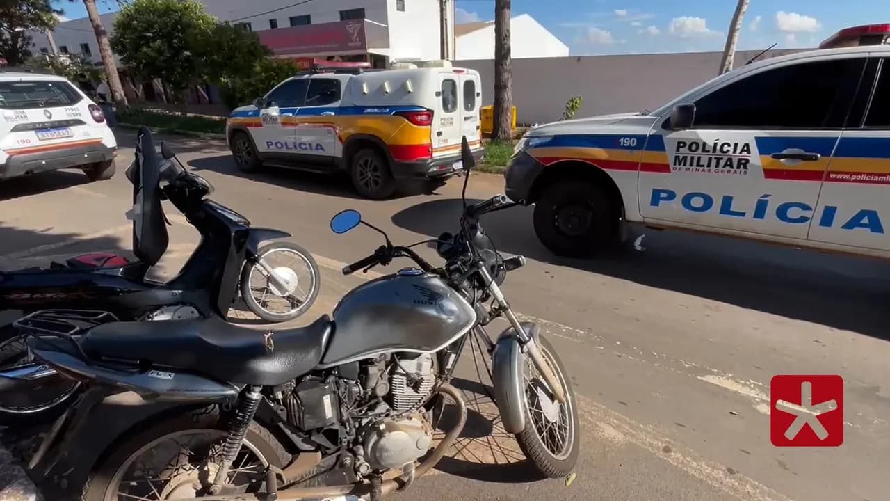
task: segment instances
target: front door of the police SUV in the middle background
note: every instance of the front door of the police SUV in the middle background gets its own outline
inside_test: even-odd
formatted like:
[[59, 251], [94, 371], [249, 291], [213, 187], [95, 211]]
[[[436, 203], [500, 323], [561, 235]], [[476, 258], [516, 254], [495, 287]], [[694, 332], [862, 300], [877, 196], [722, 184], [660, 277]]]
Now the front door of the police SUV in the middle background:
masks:
[[306, 86], [306, 79], [295, 78], [281, 83], [266, 94], [265, 106], [260, 109], [262, 127], [252, 129], [259, 152], [279, 158], [292, 157], [297, 152], [291, 119], [303, 105]]

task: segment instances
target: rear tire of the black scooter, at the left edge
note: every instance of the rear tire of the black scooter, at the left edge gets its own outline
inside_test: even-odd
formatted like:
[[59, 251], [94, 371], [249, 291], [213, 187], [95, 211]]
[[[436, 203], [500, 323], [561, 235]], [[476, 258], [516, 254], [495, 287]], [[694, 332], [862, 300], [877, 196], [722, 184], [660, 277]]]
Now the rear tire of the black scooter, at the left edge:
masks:
[[[0, 370], [12, 368], [28, 356], [28, 350], [23, 345], [21, 348], [16, 347], [15, 341], [17, 337], [13, 336], [0, 342]], [[28, 386], [27, 389], [21, 390], [25, 394], [21, 397], [27, 398], [36, 391], [45, 391], [52, 396], [54, 390], [58, 390], [57, 397], [32, 407], [13, 407], [8, 399], [12, 390], [5, 390], [4, 394], [0, 394], [0, 426], [40, 426], [53, 423], [77, 399], [82, 389], [79, 383], [70, 382], [60, 374], [54, 374], [45, 378], [40, 386]]]

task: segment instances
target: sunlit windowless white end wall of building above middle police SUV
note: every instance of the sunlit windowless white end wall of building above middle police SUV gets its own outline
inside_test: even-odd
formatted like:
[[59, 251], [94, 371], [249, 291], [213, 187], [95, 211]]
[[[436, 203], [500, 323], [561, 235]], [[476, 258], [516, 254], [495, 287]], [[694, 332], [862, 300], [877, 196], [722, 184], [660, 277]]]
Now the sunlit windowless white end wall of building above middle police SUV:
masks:
[[389, 8], [391, 59], [440, 59], [439, 0], [405, 0], [405, 12]]

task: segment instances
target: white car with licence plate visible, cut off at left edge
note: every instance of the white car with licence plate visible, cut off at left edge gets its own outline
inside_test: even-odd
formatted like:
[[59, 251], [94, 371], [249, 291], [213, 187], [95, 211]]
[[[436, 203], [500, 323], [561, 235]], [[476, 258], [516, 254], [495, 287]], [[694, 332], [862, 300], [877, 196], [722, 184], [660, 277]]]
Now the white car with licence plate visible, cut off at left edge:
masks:
[[68, 79], [0, 70], [0, 179], [79, 168], [99, 181], [116, 156], [101, 108]]

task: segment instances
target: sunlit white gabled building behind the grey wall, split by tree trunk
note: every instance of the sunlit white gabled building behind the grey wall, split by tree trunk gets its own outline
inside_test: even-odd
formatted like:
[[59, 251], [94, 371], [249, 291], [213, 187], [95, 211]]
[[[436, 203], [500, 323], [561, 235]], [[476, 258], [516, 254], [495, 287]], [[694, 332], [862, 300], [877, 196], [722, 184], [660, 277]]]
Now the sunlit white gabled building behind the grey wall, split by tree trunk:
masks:
[[[456, 55], [456, 59], [461, 61], [494, 59], [494, 23], [457, 37]], [[522, 14], [510, 20], [510, 55], [513, 59], [563, 57], [569, 55], [569, 46], [563, 44], [529, 14]]]

